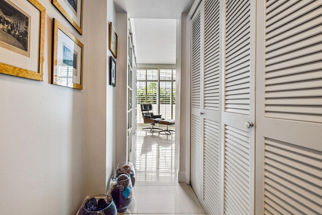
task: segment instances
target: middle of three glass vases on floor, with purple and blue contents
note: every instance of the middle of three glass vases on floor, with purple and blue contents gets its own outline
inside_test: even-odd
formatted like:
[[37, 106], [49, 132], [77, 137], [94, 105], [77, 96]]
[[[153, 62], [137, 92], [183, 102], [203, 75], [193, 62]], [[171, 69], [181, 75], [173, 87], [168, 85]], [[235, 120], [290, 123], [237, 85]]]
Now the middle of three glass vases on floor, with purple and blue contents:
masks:
[[115, 202], [117, 212], [126, 211], [133, 197], [133, 187], [130, 175], [127, 173], [122, 173], [119, 176], [113, 175], [110, 180], [108, 193]]

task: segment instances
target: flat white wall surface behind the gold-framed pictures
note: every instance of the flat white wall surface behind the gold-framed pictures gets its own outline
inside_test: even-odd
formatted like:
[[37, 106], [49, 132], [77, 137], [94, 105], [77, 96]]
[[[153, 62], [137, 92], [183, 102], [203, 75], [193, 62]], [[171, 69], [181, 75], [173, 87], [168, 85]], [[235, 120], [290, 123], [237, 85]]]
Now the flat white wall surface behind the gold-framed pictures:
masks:
[[88, 61], [83, 90], [49, 83], [52, 18], [85, 47], [88, 21], [81, 36], [50, 1], [39, 2], [46, 8], [44, 81], [0, 74], [1, 214], [75, 214], [87, 195]]

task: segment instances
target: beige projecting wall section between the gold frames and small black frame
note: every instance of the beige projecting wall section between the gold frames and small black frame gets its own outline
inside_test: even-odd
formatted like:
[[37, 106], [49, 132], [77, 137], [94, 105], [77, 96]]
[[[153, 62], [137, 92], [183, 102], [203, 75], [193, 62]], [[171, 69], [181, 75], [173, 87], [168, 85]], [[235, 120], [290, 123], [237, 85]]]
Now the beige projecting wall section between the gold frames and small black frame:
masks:
[[[111, 4], [112, 3], [112, 4]], [[99, 6], [99, 7], [98, 7]], [[112, 1], [92, 0], [89, 4], [89, 168], [88, 193], [104, 193], [112, 173], [114, 88], [109, 86], [109, 19], [114, 22]], [[108, 15], [110, 17], [108, 17]], [[108, 96], [107, 96], [108, 95]], [[109, 103], [109, 105], [107, 105]], [[108, 154], [107, 154], [108, 153]]]

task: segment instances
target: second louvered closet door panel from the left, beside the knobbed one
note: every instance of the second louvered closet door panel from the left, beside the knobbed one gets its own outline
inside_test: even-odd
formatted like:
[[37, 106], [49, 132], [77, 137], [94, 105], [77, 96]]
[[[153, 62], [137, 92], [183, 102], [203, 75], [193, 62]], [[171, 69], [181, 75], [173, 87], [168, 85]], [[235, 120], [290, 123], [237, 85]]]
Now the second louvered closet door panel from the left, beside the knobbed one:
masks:
[[203, 199], [210, 214], [220, 214], [220, 1], [205, 0], [203, 54]]

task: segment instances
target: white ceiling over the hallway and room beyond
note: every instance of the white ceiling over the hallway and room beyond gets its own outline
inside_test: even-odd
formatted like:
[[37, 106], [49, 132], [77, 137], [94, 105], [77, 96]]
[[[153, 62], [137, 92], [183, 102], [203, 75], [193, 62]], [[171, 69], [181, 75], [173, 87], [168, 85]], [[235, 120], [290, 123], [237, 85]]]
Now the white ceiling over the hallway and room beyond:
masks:
[[194, 0], [114, 0], [117, 12], [133, 18], [136, 62], [176, 63], [176, 19], [188, 13]]

